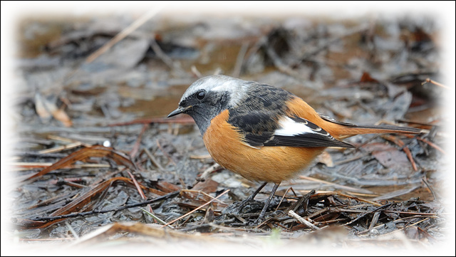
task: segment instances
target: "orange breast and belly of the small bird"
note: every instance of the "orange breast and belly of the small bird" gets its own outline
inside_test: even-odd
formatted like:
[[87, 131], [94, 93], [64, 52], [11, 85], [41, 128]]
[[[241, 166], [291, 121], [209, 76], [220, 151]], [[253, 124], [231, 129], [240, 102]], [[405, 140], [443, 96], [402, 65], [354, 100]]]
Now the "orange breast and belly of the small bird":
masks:
[[280, 183], [291, 179], [325, 147], [249, 147], [227, 122], [228, 110], [211, 121], [203, 140], [209, 154], [225, 169], [249, 180]]

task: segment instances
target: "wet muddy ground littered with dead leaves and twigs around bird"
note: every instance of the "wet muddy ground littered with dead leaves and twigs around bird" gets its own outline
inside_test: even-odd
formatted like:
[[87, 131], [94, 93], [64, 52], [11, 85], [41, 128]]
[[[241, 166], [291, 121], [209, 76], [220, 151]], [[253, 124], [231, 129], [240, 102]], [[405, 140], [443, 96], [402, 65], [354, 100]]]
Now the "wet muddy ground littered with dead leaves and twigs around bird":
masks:
[[[265, 236], [298, 248], [301, 241], [432, 248], [445, 240], [450, 135], [442, 130], [442, 96], [449, 91], [438, 83], [435, 17], [151, 14], [110, 45], [139, 20], [19, 23], [12, 97], [19, 142], [11, 147], [16, 187], [8, 194], [17, 241], [169, 243], [163, 224], [185, 246], [215, 240], [261, 248]], [[356, 149], [328, 149], [283, 182], [268, 219], [252, 225], [271, 185], [246, 213], [222, 215], [259, 184], [214, 165], [189, 117], [165, 118], [188, 85], [214, 73], [284, 88], [343, 122], [425, 133], [357, 136], [346, 140]]]

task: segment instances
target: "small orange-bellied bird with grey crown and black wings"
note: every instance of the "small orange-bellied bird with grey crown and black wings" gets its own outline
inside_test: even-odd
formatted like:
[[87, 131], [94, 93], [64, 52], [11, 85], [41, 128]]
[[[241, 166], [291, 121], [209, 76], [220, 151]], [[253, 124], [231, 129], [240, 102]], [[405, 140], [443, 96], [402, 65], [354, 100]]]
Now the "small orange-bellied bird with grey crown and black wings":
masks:
[[319, 114], [298, 96], [265, 83], [209, 75], [192, 83], [176, 110], [190, 115], [215, 162], [251, 181], [274, 187], [261, 220], [281, 182], [309, 167], [326, 147], [354, 146], [347, 137], [373, 133], [419, 134], [413, 127], [354, 125]]

